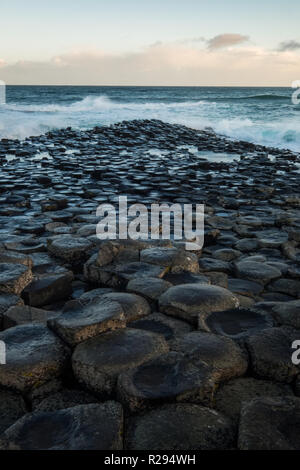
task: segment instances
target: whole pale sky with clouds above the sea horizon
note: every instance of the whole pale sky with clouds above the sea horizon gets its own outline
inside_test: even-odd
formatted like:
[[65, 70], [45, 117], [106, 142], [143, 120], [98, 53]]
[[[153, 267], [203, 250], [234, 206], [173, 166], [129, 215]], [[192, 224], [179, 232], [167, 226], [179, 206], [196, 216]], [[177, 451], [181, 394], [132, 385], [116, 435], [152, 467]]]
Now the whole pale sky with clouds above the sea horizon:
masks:
[[0, 80], [19, 85], [290, 86], [298, 0], [9, 0]]

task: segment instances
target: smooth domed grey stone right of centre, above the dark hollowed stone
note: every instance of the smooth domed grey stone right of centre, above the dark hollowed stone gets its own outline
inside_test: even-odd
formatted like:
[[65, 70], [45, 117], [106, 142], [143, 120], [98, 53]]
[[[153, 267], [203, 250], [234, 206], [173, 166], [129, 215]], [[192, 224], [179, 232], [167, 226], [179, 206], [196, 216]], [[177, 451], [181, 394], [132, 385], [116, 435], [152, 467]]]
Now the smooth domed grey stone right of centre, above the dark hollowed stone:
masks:
[[184, 284], [168, 289], [159, 298], [161, 312], [197, 324], [198, 315], [238, 307], [227, 289], [206, 284]]

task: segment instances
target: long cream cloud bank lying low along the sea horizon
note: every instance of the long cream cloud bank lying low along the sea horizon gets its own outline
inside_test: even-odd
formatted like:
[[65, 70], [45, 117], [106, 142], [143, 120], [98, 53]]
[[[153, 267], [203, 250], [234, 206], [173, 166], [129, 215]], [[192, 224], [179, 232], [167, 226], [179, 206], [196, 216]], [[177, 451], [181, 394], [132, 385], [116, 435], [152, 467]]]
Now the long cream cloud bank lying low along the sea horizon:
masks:
[[127, 54], [74, 50], [0, 69], [0, 79], [19, 85], [290, 86], [297, 77], [296, 50], [286, 54], [247, 44], [208, 49], [179, 42], [157, 42]]

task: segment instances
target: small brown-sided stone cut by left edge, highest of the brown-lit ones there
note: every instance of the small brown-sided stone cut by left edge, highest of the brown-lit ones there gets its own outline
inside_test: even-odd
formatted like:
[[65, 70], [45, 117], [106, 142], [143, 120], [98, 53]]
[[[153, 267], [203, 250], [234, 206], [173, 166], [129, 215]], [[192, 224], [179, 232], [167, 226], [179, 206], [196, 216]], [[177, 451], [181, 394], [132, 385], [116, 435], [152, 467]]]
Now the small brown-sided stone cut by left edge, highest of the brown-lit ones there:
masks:
[[28, 266], [0, 263], [0, 292], [20, 295], [31, 280], [32, 272]]

